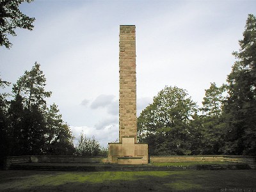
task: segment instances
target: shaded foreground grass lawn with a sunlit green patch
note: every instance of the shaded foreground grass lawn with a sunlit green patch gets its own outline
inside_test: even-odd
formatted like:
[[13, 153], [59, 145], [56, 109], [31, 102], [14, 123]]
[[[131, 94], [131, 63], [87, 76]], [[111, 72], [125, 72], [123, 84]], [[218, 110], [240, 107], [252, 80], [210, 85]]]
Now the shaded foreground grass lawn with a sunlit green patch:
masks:
[[256, 170], [0, 171], [0, 191], [256, 191]]

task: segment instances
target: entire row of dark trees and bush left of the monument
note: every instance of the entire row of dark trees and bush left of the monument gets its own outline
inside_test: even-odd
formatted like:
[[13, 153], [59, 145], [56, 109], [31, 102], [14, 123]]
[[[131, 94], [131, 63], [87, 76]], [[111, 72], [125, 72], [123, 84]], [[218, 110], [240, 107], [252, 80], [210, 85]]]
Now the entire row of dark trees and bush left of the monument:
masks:
[[[106, 155], [99, 142], [85, 137], [83, 132], [76, 148], [69, 125], [62, 120], [56, 104], [47, 106], [51, 92], [45, 90], [46, 79], [35, 63], [16, 84], [12, 95], [0, 93], [0, 148], [4, 156], [22, 155]], [[10, 83], [0, 78], [1, 88]]]

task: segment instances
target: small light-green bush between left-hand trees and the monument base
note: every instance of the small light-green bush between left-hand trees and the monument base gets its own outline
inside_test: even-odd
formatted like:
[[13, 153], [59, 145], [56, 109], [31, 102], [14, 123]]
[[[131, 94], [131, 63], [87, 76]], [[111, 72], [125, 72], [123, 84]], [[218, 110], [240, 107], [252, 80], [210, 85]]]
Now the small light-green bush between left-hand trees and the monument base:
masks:
[[92, 139], [87, 139], [86, 135], [82, 131], [79, 136], [78, 145], [76, 147], [76, 153], [77, 156], [99, 156], [99, 141], [95, 140], [94, 136]]

